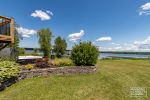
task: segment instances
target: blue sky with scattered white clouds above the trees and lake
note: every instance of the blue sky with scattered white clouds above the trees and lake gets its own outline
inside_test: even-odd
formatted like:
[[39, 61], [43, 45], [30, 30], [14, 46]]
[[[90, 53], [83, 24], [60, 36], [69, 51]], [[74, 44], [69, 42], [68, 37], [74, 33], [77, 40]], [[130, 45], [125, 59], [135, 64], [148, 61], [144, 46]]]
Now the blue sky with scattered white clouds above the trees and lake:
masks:
[[50, 28], [68, 48], [85, 40], [102, 51], [150, 51], [150, 0], [1, 0], [0, 14], [20, 26], [21, 47], [38, 47], [36, 31]]

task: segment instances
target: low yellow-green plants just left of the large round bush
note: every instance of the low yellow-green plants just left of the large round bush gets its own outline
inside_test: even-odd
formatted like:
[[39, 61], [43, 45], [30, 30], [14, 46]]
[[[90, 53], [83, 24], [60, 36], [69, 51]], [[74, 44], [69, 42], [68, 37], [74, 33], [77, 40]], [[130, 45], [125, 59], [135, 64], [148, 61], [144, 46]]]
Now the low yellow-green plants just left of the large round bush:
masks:
[[62, 66], [73, 66], [73, 62], [71, 59], [68, 59], [68, 58], [56, 58], [54, 59], [53, 61], [53, 65], [54, 66], [59, 66], [59, 67], [62, 67]]

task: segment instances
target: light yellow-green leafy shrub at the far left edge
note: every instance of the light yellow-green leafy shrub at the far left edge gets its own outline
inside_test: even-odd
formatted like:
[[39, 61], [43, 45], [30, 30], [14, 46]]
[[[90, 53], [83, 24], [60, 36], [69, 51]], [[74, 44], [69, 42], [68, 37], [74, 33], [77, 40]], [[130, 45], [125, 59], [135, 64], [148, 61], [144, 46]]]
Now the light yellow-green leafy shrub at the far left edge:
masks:
[[17, 77], [19, 65], [13, 61], [0, 61], [0, 82]]

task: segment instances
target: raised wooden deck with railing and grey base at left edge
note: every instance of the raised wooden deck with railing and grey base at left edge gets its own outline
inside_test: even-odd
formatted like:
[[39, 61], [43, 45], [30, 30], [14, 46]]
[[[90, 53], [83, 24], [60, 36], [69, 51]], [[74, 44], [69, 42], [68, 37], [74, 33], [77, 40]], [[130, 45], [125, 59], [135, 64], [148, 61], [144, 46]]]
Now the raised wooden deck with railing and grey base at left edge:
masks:
[[0, 16], [0, 58], [13, 57], [14, 31], [14, 19]]

